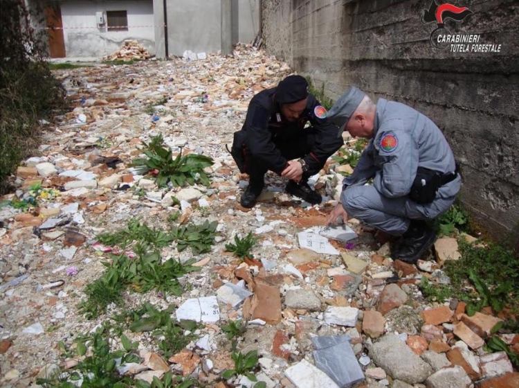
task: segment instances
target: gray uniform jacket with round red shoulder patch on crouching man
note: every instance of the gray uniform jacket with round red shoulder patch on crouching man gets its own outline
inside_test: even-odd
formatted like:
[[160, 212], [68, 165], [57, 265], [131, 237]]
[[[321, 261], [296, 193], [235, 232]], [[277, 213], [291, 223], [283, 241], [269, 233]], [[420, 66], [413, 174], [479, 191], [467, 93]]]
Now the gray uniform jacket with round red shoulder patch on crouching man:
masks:
[[[344, 179], [345, 188], [373, 178], [373, 186], [384, 197], [403, 197], [410, 193], [418, 167], [440, 173], [455, 171], [454, 155], [444, 134], [412, 107], [379, 99], [373, 138], [352, 175]], [[458, 176], [441, 186], [436, 197], [455, 197], [460, 186]]]

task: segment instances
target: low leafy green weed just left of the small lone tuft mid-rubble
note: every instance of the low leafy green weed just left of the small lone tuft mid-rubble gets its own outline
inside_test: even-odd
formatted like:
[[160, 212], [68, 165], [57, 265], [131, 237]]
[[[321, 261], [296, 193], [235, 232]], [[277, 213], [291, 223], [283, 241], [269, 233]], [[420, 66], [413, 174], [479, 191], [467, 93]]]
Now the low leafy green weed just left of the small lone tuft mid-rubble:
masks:
[[203, 224], [187, 224], [173, 227], [171, 236], [177, 240], [176, 249], [182, 252], [185, 248], [191, 247], [194, 254], [202, 254], [211, 251], [211, 245], [215, 243], [217, 221]]

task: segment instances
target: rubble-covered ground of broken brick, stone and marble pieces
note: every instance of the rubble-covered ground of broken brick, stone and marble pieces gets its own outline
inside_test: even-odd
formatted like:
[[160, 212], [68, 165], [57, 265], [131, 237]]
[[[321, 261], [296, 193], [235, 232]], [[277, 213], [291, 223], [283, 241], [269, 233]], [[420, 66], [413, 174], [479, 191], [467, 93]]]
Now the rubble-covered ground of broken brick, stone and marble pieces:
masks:
[[[483, 349], [498, 317], [468, 317], [456, 301], [428, 303], [417, 287], [422, 276], [448, 281], [441, 265], [459, 256], [455, 239], [438, 240], [435, 257], [418, 268], [392, 261], [384, 236], [356, 220], [349, 220], [355, 240], [317, 243], [307, 236], [300, 246], [298, 233], [325, 223], [340, 193], [336, 170], [347, 167], [330, 161], [313, 179], [325, 195], [318, 206], [284, 193], [286, 181], [271, 174], [257, 206], [239, 206], [246, 177], [225, 145], [252, 96], [289, 73], [286, 64], [250, 46], [238, 46], [229, 58], [56, 71], [73, 111], [43, 123], [38, 155], [19, 168], [17, 192], [1, 198], [20, 208], [5, 202], [0, 208], [2, 387], [35, 386], [37, 378], [74, 371], [85, 360], [78, 336], [93, 335], [102, 324], [110, 324], [113, 351], [132, 347], [122, 335], [136, 343], [129, 353], [138, 357], [119, 366], [135, 384], [173, 371], [199, 386], [253, 387], [243, 371], [221, 377], [236, 369], [236, 348], [257, 350], [259, 360], [244, 370], [266, 387], [518, 386], [507, 354]], [[158, 134], [175, 155], [182, 150], [214, 159], [206, 168], [209, 187], [159, 188], [153, 175], [138, 175], [131, 161], [143, 157], [145, 143]], [[135, 245], [120, 249], [98, 243], [98, 236], [127, 230], [135, 219], [164, 231], [208, 220], [217, 222], [217, 233], [210, 252], [178, 252], [176, 241], [161, 248], [163, 260], [197, 261], [197, 271], [180, 277], [179, 296], [127, 287], [121, 303], [86, 319], [79, 304], [87, 299], [86, 285], [106, 270], [102, 262], [113, 253], [137, 260]], [[226, 244], [248, 233], [257, 242], [253, 258], [242, 261]], [[330, 253], [307, 249], [311, 243]], [[179, 329], [184, 349], [161, 348], [163, 334], [129, 329], [129, 321], [150, 316], [141, 309], [131, 317], [145, 302], [159, 311], [174, 304], [171, 321], [199, 321]], [[240, 320], [244, 328], [233, 326]], [[516, 344], [519, 336], [503, 340]]]

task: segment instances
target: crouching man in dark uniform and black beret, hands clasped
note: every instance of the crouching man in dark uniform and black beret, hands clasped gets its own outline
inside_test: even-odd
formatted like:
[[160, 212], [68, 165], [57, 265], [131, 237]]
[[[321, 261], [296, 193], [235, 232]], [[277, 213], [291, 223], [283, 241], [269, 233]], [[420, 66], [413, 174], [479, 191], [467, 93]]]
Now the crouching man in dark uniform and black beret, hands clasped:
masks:
[[326, 115], [326, 109], [309, 94], [308, 82], [302, 76], [288, 76], [277, 87], [252, 98], [231, 150], [240, 172], [250, 177], [240, 199], [242, 206], [256, 204], [268, 170], [289, 179], [288, 193], [311, 204], [321, 202], [320, 194], [308, 185], [308, 178], [343, 145]]

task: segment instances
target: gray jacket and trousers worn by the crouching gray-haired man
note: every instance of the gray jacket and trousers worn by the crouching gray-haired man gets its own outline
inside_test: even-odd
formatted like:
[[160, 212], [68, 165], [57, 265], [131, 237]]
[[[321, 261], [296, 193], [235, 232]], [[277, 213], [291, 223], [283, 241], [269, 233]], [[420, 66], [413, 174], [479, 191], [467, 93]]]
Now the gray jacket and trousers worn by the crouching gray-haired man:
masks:
[[[417, 168], [455, 171], [450, 146], [437, 125], [412, 107], [383, 98], [376, 104], [374, 135], [351, 176], [344, 179], [341, 202], [350, 217], [399, 236], [410, 220], [434, 220], [455, 201], [459, 175], [441, 186], [430, 204], [417, 204], [408, 194]], [[365, 183], [373, 179], [373, 186]]]

